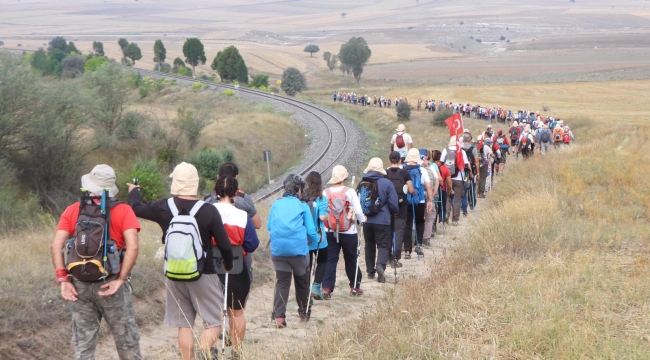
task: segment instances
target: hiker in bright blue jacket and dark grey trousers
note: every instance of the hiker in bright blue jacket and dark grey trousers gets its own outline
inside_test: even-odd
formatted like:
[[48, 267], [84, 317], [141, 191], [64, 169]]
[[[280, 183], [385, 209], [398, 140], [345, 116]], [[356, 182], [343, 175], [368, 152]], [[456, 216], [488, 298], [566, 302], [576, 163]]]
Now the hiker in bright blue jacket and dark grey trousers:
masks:
[[284, 195], [273, 202], [266, 224], [271, 237], [271, 261], [275, 269], [275, 294], [271, 317], [278, 329], [287, 327], [286, 310], [293, 276], [300, 322], [309, 321], [309, 245], [318, 242], [309, 205], [300, 201], [305, 182], [289, 174], [283, 182]]

